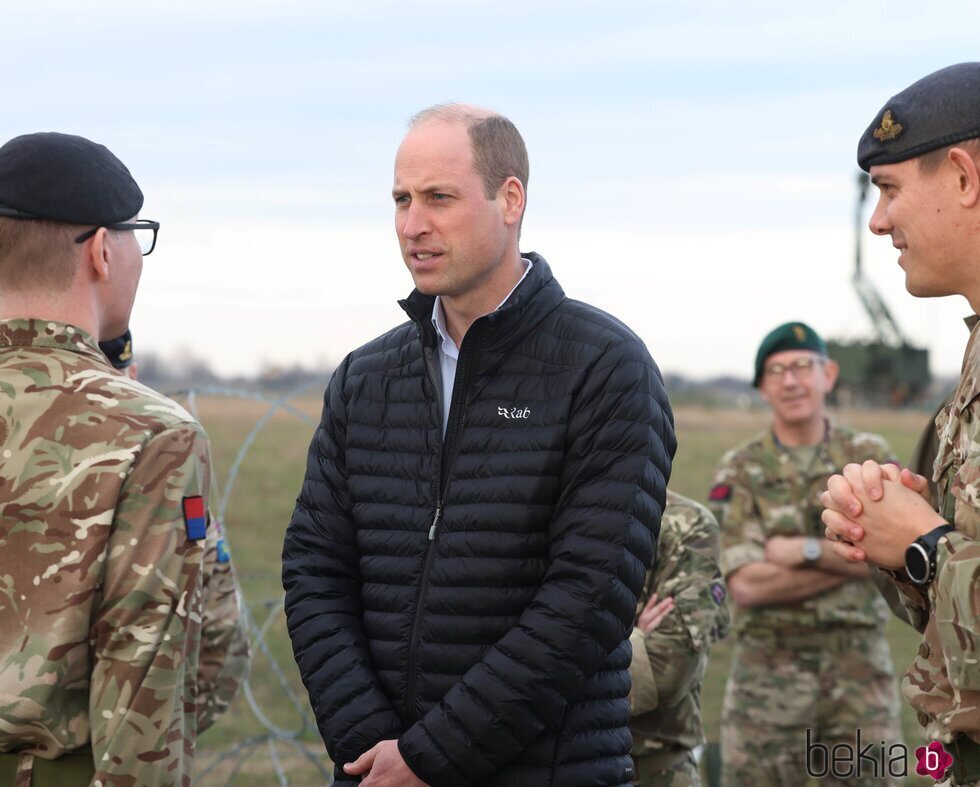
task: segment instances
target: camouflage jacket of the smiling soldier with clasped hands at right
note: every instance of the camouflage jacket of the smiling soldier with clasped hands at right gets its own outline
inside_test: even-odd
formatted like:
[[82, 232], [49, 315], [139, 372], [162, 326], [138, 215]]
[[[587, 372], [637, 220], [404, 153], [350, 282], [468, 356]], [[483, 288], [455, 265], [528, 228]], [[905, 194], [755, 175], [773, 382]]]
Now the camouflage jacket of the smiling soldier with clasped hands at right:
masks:
[[[926, 593], [896, 579], [912, 623], [922, 632], [902, 693], [930, 738], [957, 733], [980, 743], [980, 323], [963, 373], [936, 417], [939, 450], [933, 481], [939, 513], [956, 530], [940, 539], [936, 576]], [[898, 575], [899, 577], [901, 575]]]

